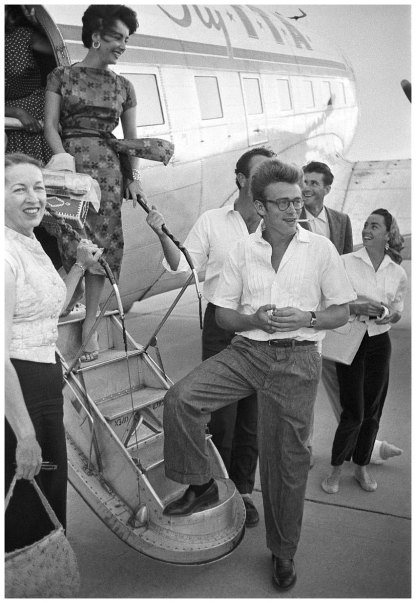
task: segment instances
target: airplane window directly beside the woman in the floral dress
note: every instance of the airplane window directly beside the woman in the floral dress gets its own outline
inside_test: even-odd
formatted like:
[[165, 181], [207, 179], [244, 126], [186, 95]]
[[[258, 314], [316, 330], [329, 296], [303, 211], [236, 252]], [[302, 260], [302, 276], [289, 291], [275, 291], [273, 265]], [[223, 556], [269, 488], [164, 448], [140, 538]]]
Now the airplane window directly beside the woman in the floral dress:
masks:
[[134, 86], [137, 96], [136, 123], [143, 125], [164, 124], [162, 104], [160, 103], [159, 88], [154, 74], [121, 74]]

